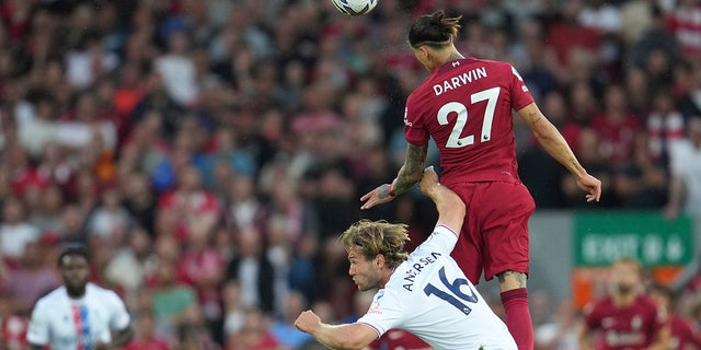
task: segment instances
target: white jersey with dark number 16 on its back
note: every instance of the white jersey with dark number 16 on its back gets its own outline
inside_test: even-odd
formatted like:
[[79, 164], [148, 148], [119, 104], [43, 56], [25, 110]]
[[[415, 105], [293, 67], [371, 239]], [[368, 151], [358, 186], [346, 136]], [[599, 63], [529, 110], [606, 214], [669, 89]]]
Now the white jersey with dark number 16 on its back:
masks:
[[390, 328], [411, 331], [435, 349], [516, 350], [504, 322], [450, 257], [457, 241], [452, 230], [437, 225], [394, 270], [358, 323], [378, 337]]

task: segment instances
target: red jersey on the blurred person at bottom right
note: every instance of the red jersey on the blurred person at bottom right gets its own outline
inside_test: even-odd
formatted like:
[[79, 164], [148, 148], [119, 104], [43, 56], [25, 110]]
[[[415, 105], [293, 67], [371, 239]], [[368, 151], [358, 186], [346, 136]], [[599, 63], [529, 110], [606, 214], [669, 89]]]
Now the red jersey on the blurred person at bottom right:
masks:
[[616, 306], [610, 296], [585, 308], [584, 322], [597, 332], [594, 349], [647, 349], [664, 326], [657, 305], [646, 295], [639, 295], [633, 304]]

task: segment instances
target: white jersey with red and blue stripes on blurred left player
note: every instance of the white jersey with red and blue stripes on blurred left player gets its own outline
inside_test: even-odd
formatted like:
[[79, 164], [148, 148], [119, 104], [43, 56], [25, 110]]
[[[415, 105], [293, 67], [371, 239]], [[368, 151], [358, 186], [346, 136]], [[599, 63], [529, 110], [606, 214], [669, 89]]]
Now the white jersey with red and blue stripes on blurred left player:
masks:
[[53, 350], [90, 350], [97, 341], [108, 343], [111, 330], [125, 329], [129, 323], [115, 292], [88, 283], [85, 295], [76, 300], [60, 287], [36, 302], [26, 339]]

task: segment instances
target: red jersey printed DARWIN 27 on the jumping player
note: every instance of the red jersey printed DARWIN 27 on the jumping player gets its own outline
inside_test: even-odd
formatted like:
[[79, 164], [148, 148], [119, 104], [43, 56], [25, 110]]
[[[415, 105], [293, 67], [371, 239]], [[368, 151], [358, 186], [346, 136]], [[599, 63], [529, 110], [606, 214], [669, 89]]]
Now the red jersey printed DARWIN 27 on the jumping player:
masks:
[[413, 144], [436, 141], [446, 185], [519, 182], [512, 110], [532, 102], [509, 63], [449, 61], [409, 96], [404, 136]]

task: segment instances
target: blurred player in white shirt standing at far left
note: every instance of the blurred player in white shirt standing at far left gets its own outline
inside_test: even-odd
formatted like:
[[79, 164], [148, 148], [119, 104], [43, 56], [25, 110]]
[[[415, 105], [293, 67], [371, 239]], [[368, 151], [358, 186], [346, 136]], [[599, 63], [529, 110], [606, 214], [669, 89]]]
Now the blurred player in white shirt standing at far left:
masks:
[[28, 349], [101, 350], [127, 345], [131, 317], [119, 296], [88, 282], [88, 250], [69, 246], [59, 255], [64, 285], [39, 299], [26, 334]]

